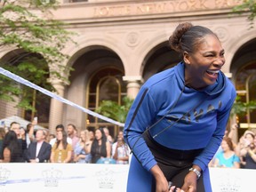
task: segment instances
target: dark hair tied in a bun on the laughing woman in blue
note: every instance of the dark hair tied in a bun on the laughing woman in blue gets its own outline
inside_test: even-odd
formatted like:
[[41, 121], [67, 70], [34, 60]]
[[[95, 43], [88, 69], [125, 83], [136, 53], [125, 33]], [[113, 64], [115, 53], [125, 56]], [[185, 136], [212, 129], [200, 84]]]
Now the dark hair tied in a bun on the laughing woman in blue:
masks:
[[216, 36], [209, 28], [193, 26], [189, 22], [180, 23], [170, 36], [169, 44], [174, 51], [179, 53], [194, 52], [196, 45], [200, 44], [206, 35]]

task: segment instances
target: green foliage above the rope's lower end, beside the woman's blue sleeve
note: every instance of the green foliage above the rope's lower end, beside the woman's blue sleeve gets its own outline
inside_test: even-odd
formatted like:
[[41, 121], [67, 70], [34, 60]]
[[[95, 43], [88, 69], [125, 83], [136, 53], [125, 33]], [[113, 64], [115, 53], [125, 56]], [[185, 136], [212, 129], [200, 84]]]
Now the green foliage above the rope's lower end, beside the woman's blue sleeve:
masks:
[[100, 102], [100, 107], [96, 108], [95, 111], [100, 113], [102, 116], [107, 116], [120, 123], [124, 123], [128, 111], [132, 106], [132, 102], [133, 100], [129, 97], [123, 98], [122, 105], [118, 105], [118, 103], [113, 100], [102, 100]]

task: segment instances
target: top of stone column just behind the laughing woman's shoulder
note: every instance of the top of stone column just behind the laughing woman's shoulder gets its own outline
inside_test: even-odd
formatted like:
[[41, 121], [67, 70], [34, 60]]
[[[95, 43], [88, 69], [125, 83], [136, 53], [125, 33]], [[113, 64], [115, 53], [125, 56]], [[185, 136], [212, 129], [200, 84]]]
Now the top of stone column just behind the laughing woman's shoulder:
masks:
[[140, 91], [141, 76], [124, 76], [124, 81], [127, 81], [127, 96], [135, 99]]

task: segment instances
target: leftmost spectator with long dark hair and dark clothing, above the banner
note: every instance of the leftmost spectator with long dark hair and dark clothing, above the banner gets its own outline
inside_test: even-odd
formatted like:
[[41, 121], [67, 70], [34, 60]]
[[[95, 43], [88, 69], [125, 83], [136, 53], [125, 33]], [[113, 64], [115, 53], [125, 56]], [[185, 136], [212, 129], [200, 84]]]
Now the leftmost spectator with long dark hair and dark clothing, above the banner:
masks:
[[16, 132], [10, 130], [5, 134], [1, 156], [3, 157], [4, 163], [24, 162], [22, 149]]

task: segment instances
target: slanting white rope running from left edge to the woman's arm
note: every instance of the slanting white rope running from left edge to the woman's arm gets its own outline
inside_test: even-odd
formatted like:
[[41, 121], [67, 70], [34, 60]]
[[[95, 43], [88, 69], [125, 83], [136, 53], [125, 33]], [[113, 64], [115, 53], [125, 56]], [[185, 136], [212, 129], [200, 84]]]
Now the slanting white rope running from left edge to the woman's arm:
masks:
[[95, 113], [92, 110], [89, 110], [88, 108], [83, 108], [82, 106], [79, 106], [76, 103], [71, 102], [70, 100], [66, 100], [66, 99], [60, 97], [59, 95], [57, 95], [57, 94], [55, 94], [53, 92], [45, 90], [44, 88], [42, 88], [42, 87], [40, 87], [40, 86], [38, 86], [36, 84], [33, 84], [33, 83], [29, 82], [28, 80], [26, 80], [26, 79], [24, 79], [24, 78], [22, 78], [20, 76], [17, 76], [17, 75], [15, 75], [13, 73], [11, 73], [8, 70], [5, 70], [4, 68], [0, 68], [0, 73], [2, 75], [4, 75], [4, 76], [7, 76], [7, 77], [11, 78], [12, 80], [14, 80], [16, 82], [19, 82], [20, 84], [25, 84], [28, 87], [36, 89], [37, 91], [42, 92], [42, 93], [50, 96], [51, 98], [53, 98], [55, 100], [59, 100], [60, 102], [66, 103], [66, 104], [68, 104], [68, 105], [70, 105], [70, 106], [72, 106], [74, 108], [78, 108], [78, 109], [82, 110], [84, 113], [87, 113], [87, 114], [90, 114], [92, 116], [98, 117], [98, 118], [100, 118], [100, 119], [102, 119], [102, 120], [104, 120], [104, 121], [106, 121], [108, 123], [116, 124], [118, 126], [124, 127], [123, 123], [117, 122], [117, 121], [115, 121], [115, 120], [113, 120], [111, 118], [108, 118], [107, 116], [101, 116], [100, 114]]

